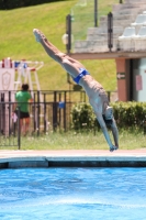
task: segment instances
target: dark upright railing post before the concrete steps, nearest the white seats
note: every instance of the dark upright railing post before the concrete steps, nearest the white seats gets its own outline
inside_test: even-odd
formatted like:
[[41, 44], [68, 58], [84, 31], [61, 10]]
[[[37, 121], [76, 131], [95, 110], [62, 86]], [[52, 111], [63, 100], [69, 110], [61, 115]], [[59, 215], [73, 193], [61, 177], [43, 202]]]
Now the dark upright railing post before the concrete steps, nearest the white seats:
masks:
[[113, 14], [111, 12], [108, 14], [108, 47], [111, 52], [113, 47]]

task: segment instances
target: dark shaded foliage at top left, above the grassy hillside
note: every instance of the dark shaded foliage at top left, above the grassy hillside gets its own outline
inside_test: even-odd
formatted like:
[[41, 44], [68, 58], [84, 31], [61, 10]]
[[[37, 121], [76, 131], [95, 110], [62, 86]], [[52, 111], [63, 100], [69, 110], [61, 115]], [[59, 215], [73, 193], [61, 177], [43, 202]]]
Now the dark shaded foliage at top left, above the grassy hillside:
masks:
[[67, 0], [1, 0], [0, 10], [10, 10], [10, 9], [16, 9], [22, 7], [30, 7], [30, 6], [36, 6], [56, 1], [67, 1]]

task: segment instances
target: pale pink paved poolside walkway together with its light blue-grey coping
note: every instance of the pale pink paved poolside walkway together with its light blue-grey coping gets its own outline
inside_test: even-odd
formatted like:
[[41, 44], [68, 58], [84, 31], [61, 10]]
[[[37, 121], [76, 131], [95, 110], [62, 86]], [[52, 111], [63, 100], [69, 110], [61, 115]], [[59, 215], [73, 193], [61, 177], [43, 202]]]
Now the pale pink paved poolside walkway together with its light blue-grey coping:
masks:
[[20, 161], [47, 162], [145, 162], [146, 148], [141, 150], [63, 150], [63, 151], [0, 151], [0, 163]]

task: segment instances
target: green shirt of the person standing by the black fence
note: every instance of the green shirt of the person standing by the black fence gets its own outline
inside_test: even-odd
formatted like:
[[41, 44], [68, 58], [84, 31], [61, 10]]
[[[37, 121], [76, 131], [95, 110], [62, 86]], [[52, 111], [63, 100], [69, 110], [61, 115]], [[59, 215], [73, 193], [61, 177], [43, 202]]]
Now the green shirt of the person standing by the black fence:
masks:
[[18, 91], [15, 99], [18, 101], [18, 107], [20, 107], [20, 111], [29, 112], [29, 99], [32, 99], [31, 94], [29, 91]]

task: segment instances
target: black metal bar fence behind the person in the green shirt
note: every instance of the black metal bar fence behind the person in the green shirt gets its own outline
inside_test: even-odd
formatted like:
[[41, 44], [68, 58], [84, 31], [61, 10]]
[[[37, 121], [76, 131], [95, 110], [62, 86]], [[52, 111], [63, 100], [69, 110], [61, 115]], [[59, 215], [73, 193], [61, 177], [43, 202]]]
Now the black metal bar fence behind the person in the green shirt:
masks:
[[[0, 91], [0, 146], [21, 147], [20, 118], [13, 114], [15, 91]], [[71, 109], [75, 103], [86, 102], [86, 92], [74, 90], [33, 91], [29, 103], [30, 128], [27, 135], [66, 132], [71, 128]], [[108, 91], [109, 99], [111, 92]], [[19, 116], [19, 111], [18, 111]]]

